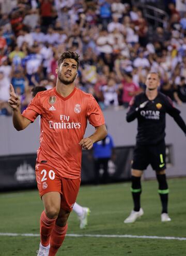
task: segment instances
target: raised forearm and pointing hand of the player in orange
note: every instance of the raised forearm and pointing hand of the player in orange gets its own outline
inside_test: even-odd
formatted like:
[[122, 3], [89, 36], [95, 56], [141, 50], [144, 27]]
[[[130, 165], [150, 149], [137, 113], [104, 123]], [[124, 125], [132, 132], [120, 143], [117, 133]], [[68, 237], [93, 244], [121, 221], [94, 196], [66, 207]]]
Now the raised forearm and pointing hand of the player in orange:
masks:
[[12, 84], [10, 84], [10, 98], [8, 100], [8, 104], [11, 106], [13, 111], [12, 120], [15, 129], [18, 131], [25, 129], [31, 123], [31, 121], [22, 116], [20, 111], [21, 102], [18, 95], [15, 94]]

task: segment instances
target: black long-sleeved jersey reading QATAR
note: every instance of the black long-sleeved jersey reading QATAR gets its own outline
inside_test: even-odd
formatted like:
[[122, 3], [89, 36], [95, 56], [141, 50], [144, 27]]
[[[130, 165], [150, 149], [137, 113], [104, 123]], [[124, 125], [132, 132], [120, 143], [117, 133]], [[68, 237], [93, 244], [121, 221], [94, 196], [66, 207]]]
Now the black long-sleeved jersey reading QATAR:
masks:
[[[141, 104], [144, 102], [145, 106], [143, 107]], [[172, 116], [183, 132], [186, 133], [186, 126], [180, 116], [180, 111], [173, 106], [172, 101], [163, 93], [158, 92], [154, 100], [149, 100], [145, 92], [133, 98], [127, 113], [127, 122], [137, 118], [136, 141], [138, 144], [153, 145], [164, 140], [166, 113]]]

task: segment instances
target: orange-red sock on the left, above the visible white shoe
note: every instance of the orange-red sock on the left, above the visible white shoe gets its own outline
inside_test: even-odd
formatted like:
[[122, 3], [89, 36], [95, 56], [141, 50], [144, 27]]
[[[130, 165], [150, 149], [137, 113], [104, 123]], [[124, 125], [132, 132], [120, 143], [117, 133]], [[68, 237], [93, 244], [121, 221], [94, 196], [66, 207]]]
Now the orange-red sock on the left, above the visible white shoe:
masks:
[[[57, 218], [56, 218], [57, 219]], [[40, 236], [41, 236], [41, 245], [48, 246], [50, 241], [50, 235], [55, 225], [56, 219], [49, 219], [46, 217], [45, 212], [41, 213], [40, 218]]]

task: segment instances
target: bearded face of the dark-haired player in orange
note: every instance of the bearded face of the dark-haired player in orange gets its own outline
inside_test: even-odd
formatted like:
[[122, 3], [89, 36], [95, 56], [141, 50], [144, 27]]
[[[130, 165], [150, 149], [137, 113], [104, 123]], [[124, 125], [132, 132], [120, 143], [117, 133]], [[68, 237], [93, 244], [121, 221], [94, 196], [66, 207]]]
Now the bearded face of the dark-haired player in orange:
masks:
[[61, 83], [72, 84], [77, 75], [77, 62], [74, 59], [65, 59], [56, 69], [56, 73]]

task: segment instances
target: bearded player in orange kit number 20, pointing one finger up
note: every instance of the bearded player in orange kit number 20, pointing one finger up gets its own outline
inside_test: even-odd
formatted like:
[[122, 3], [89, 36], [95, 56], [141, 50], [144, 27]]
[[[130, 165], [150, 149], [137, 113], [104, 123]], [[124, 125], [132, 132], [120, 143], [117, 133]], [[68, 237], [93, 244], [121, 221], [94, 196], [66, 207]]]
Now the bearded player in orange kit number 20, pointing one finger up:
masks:
[[[25, 129], [41, 116], [36, 179], [44, 204], [40, 218], [38, 256], [54, 256], [67, 233], [67, 220], [81, 182], [82, 148], [90, 150], [107, 131], [102, 111], [92, 95], [74, 87], [79, 66], [76, 52], [64, 52], [56, 68], [56, 87], [38, 92], [21, 114], [20, 100], [10, 85], [13, 125]], [[83, 138], [87, 120], [95, 132]]]

